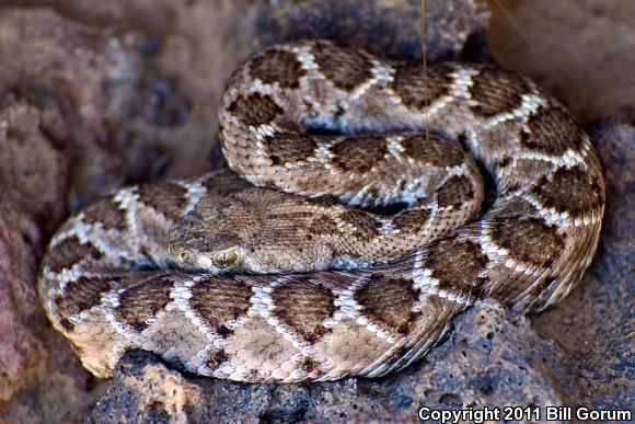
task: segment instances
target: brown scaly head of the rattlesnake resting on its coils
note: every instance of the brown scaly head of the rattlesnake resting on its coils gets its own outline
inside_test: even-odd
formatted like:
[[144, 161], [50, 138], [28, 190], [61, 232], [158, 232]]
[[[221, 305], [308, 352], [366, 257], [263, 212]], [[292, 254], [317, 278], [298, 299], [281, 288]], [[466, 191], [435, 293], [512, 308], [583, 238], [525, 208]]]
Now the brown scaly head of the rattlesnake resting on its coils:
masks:
[[313, 237], [313, 215], [296, 196], [250, 188], [203, 198], [169, 231], [181, 268], [211, 274], [280, 274], [326, 270], [331, 250]]

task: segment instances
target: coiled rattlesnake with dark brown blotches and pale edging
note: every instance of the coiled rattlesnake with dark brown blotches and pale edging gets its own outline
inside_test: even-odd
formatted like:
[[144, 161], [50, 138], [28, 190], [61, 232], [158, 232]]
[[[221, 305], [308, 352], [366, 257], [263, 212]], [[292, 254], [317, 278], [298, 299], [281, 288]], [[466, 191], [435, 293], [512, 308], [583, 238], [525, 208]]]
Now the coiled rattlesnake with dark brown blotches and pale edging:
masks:
[[[50, 241], [45, 309], [96, 376], [135, 348], [241, 381], [382, 376], [477, 299], [562, 300], [598, 245], [588, 136], [508, 71], [443, 64], [424, 79], [330, 42], [278, 45], [238, 70], [219, 115], [242, 179], [124, 187]], [[480, 217], [478, 167], [496, 191]]]

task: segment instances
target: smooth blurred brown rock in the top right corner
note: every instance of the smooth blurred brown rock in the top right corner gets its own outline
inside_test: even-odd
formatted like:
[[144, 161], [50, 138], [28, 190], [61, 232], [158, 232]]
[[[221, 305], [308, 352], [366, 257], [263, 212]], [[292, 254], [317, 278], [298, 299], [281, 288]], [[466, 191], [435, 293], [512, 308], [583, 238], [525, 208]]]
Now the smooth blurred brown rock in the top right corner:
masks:
[[497, 0], [489, 47], [498, 62], [565, 102], [578, 119], [634, 119], [633, 37], [628, 1]]

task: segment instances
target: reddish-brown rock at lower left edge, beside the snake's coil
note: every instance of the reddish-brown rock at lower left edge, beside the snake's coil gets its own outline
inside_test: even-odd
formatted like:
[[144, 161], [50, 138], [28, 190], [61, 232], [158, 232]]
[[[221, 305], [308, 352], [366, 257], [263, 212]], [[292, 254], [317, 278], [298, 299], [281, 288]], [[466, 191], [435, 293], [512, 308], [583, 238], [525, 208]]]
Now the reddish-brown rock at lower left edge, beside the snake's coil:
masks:
[[0, 422], [81, 421], [101, 391], [48, 323], [35, 289], [42, 236], [0, 197]]

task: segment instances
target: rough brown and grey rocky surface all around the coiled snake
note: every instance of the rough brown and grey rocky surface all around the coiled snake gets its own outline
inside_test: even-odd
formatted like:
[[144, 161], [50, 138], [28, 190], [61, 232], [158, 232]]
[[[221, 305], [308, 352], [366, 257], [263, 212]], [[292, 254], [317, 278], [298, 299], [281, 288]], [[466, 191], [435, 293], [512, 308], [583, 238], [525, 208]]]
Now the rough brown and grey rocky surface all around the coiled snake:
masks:
[[[183, 375], [143, 353], [129, 354], [111, 381], [97, 381], [44, 317], [35, 290], [38, 259], [69, 211], [100, 193], [197, 174], [210, 168], [210, 157], [222, 165], [216, 103], [251, 51], [320, 36], [417, 59], [419, 1], [113, 0], [86, 7], [0, 0], [0, 422], [416, 421], [420, 406], [633, 408], [635, 119], [628, 111], [635, 104], [633, 95], [597, 95], [607, 92], [607, 76], [621, 76], [620, 87], [633, 84], [624, 81], [621, 59], [604, 60], [617, 64], [612, 67], [593, 59], [586, 68], [582, 59], [577, 67], [587, 79], [549, 65], [564, 62], [558, 51], [578, 61], [589, 54], [562, 35], [580, 16], [599, 20], [585, 33], [598, 41], [592, 57], [628, 50], [627, 43], [600, 43], [612, 34], [605, 21], [627, 11], [585, 0], [567, 21], [549, 2], [531, 2], [534, 9], [495, 3], [487, 38], [497, 59], [594, 121], [588, 128], [604, 164], [609, 204], [590, 272], [564, 302], [538, 316], [520, 317], [494, 302], [475, 306], [444, 342], [395, 376], [275, 387]], [[507, 22], [506, 33], [500, 5], [526, 20], [520, 32], [532, 34], [532, 43], [535, 36], [532, 48], [551, 46], [544, 51], [552, 56], [540, 54], [546, 62], [540, 72], [532, 72], [529, 56], [523, 62], [522, 44], [513, 44], [518, 27]], [[430, 60], [494, 60], [482, 1], [428, 0], [426, 10]], [[565, 24], [556, 31], [541, 13]], [[542, 33], [535, 30], [541, 23]], [[586, 88], [589, 95], [579, 95]], [[621, 122], [596, 121], [600, 116]]]

